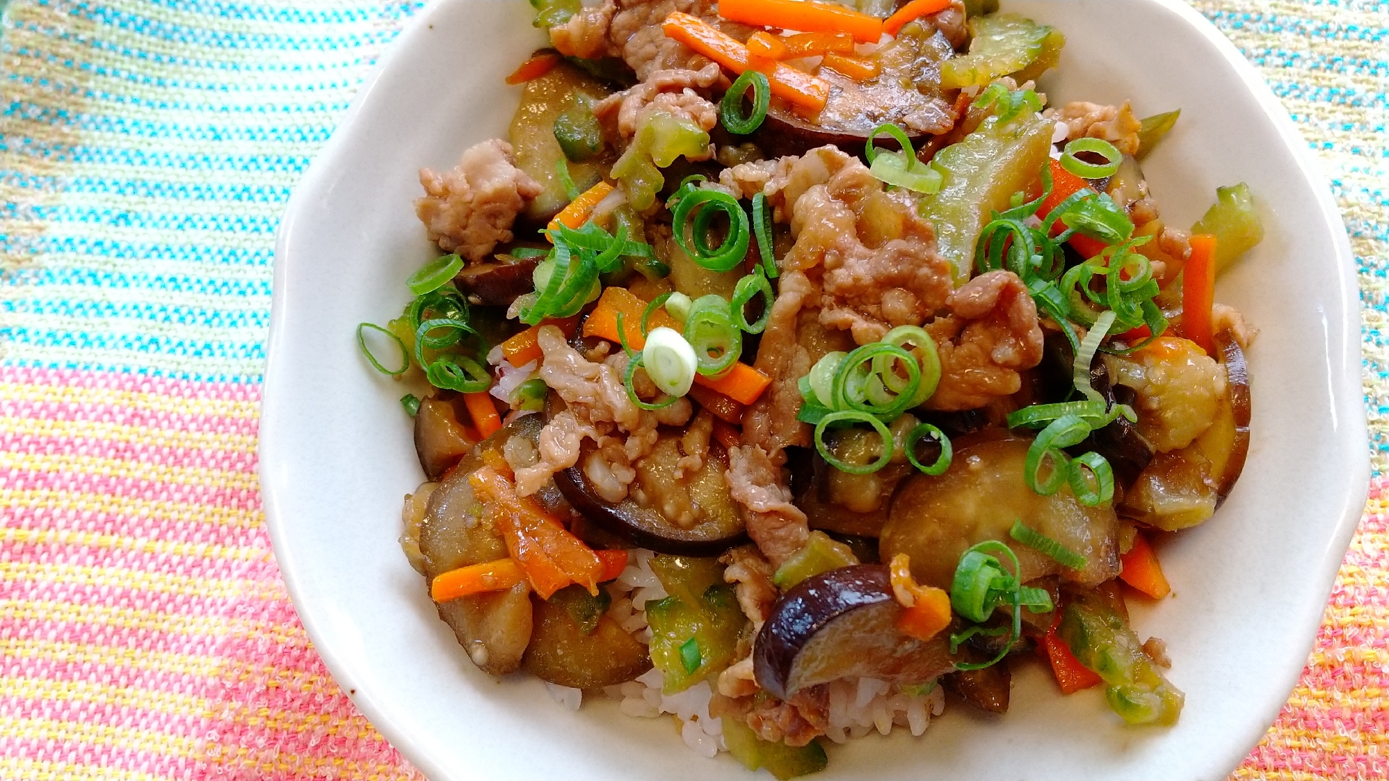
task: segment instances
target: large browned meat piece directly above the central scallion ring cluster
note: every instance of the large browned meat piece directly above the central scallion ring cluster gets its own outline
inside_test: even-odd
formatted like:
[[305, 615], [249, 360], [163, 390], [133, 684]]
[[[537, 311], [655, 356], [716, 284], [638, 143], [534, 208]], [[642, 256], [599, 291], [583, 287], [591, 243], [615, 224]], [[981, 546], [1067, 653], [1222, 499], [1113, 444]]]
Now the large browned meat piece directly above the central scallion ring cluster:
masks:
[[839, 156], [807, 154], [792, 167], [782, 197], [796, 245], [782, 263], [822, 265], [820, 322], [867, 345], [935, 314], [953, 275], [915, 200], [886, 192], [863, 163]]

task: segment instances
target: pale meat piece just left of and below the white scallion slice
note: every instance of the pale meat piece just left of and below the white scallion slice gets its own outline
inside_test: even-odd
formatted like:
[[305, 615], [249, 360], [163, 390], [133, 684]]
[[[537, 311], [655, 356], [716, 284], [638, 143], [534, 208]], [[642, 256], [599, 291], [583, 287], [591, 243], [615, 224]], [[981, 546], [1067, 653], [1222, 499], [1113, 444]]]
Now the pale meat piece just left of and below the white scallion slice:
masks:
[[[625, 354], [590, 361], [569, 347], [564, 332], [554, 327], [542, 328], [538, 342], [544, 353], [540, 378], [564, 399], [567, 409], [540, 429], [540, 459], [532, 467], [517, 470], [517, 493], [529, 496], [554, 472], [572, 467], [579, 460], [583, 439], [592, 439], [597, 449], [585, 460], [583, 472], [606, 500], [621, 502], [636, 478], [632, 464], [656, 446], [656, 427], [685, 425], [692, 413], [689, 400], [682, 397], [660, 410], [642, 410], [628, 397], [622, 384]], [[639, 371], [633, 382], [649, 384], [650, 379]]]

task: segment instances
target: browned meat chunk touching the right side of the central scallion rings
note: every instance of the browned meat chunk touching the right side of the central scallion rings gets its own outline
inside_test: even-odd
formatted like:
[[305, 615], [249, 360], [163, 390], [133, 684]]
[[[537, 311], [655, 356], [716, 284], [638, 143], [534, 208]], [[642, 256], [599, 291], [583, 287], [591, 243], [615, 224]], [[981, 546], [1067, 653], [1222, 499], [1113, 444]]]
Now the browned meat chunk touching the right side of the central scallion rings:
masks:
[[940, 384], [932, 410], [972, 410], [1017, 393], [1022, 370], [1042, 361], [1038, 307], [1011, 271], [989, 271], [950, 295], [950, 317], [926, 331], [940, 356]]

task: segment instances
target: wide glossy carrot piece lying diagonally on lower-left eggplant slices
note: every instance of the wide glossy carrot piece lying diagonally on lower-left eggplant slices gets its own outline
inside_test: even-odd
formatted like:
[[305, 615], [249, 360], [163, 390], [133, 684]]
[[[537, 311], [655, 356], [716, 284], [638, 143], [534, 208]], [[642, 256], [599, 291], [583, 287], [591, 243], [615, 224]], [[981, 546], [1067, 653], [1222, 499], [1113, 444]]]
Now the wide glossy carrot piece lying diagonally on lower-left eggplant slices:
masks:
[[518, 496], [515, 486], [492, 467], [468, 478], [472, 491], [488, 507], [497, 531], [542, 599], [574, 584], [597, 593], [603, 563], [579, 538], [550, 517], [533, 499]]

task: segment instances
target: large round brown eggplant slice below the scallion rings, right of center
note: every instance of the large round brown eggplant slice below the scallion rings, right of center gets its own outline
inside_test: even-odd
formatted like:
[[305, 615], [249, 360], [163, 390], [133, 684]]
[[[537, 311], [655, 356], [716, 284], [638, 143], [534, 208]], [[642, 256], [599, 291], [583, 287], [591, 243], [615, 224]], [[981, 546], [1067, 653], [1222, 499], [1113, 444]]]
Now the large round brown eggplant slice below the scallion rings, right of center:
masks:
[[[892, 500], [882, 528], [882, 560], [911, 556], [918, 582], [949, 589], [960, 556], [986, 539], [1007, 543], [1022, 566], [1024, 582], [1060, 575], [1095, 585], [1120, 573], [1120, 523], [1108, 504], [1086, 507], [1063, 486], [1051, 496], [1028, 488], [1024, 464], [1032, 441], [986, 429], [956, 442], [950, 468], [940, 477], [913, 475]], [[1054, 559], [1015, 542], [1015, 521], [1083, 556], [1083, 570], [1068, 570]]]

